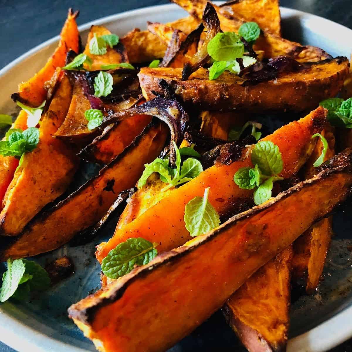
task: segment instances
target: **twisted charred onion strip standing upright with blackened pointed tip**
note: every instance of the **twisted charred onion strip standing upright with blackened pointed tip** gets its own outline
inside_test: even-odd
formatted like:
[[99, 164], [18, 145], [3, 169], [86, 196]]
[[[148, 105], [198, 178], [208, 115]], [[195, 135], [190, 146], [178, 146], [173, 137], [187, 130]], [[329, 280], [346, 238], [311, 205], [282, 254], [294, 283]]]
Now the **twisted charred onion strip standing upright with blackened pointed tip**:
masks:
[[207, 36], [196, 54], [184, 65], [182, 71], [183, 81], [186, 81], [193, 72], [209, 62], [210, 56], [208, 55], [207, 49], [208, 43], [217, 33], [221, 32], [218, 14], [210, 2], [207, 2], [207, 6], [204, 9], [202, 21], [203, 26], [207, 31]]

